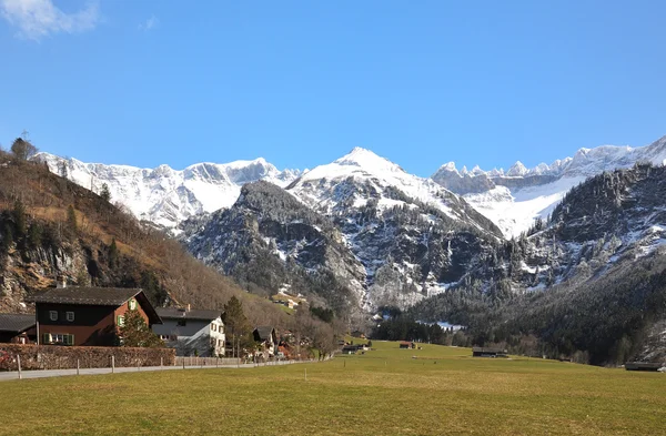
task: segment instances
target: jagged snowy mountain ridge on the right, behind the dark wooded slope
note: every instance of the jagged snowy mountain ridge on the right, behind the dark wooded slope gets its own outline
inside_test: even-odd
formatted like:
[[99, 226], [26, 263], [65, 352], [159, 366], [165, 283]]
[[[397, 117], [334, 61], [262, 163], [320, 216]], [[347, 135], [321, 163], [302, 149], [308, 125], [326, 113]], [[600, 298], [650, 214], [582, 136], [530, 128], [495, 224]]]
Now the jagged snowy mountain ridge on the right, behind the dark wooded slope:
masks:
[[508, 171], [478, 166], [458, 171], [455, 163], [442, 165], [432, 179], [464, 196], [491, 219], [506, 237], [527, 231], [536, 217], [545, 219], [572, 187], [604, 171], [636, 163], [666, 164], [666, 136], [642, 148], [603, 145], [581, 149], [573, 158], [527, 169], [516, 162]]

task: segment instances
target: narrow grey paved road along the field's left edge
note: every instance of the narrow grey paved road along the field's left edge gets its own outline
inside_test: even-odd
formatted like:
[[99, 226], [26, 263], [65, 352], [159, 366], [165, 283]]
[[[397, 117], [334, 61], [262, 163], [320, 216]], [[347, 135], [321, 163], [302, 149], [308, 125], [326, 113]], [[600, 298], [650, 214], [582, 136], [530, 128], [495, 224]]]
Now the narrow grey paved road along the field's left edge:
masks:
[[[297, 361], [285, 361], [285, 362], [271, 362], [266, 366], [276, 366], [276, 365], [291, 365], [297, 363], [312, 363], [313, 361], [297, 362]], [[260, 366], [264, 366], [261, 364]], [[241, 365], [220, 365], [220, 366], [185, 366], [186, 369], [215, 369], [215, 368], [254, 368], [258, 367], [255, 364], [241, 364]], [[147, 371], [183, 371], [182, 366], [142, 366], [141, 368], [137, 367], [123, 367], [115, 368], [113, 373], [143, 373]], [[111, 374], [111, 368], [81, 368], [79, 371], [80, 375], [99, 375], [99, 374]], [[68, 375], [77, 375], [77, 369], [43, 369], [43, 371], [23, 371], [21, 372], [22, 378], [44, 378], [44, 377], [62, 377]], [[0, 382], [7, 381], [16, 381], [19, 378], [19, 373], [17, 371], [0, 373]]]

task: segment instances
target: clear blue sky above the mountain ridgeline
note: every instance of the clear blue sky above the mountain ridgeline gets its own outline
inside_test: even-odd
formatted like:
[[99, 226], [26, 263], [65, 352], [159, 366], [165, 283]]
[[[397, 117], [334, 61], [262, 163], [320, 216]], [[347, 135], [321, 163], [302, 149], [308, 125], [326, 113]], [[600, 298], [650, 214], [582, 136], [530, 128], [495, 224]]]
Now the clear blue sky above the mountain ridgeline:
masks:
[[418, 175], [666, 134], [666, 3], [0, 0], [0, 143]]

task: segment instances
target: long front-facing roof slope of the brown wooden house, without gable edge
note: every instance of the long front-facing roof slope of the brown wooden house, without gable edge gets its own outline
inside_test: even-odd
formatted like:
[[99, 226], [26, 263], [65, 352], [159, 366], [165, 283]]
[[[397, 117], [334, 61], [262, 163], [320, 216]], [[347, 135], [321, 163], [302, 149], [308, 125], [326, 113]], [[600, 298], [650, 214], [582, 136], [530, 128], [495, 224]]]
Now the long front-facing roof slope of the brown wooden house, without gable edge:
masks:
[[52, 287], [34, 295], [34, 303], [83, 304], [91, 306], [120, 306], [142, 291], [125, 287], [68, 286]]

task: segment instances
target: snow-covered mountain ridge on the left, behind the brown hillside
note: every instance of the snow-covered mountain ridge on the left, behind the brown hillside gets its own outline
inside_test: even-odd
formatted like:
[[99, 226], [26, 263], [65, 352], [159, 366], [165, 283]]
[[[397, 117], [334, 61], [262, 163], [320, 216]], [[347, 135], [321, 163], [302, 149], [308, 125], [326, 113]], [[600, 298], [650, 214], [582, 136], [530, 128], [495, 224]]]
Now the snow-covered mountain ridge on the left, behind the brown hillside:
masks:
[[181, 171], [168, 165], [140, 169], [84, 163], [49, 153], [39, 153], [33, 159], [94, 192], [99, 193], [105, 183], [112, 201], [122, 203], [137, 217], [168, 229], [190, 216], [231, 206], [245, 183], [265, 180], [285, 186], [300, 175], [300, 171], [279, 171], [262, 158], [223, 164], [198, 163]]

